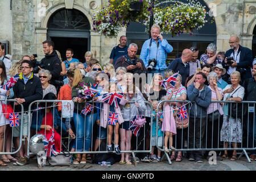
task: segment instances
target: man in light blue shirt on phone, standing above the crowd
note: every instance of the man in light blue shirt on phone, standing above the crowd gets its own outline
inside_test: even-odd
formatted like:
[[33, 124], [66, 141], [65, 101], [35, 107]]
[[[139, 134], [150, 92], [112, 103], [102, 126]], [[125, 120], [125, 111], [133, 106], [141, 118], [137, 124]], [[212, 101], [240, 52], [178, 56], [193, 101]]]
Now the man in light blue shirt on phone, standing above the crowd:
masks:
[[160, 27], [157, 24], [154, 24], [151, 27], [151, 39], [148, 39], [144, 42], [140, 59], [143, 60], [143, 63], [146, 68], [148, 68], [148, 60], [156, 59], [157, 63], [155, 67], [148, 71], [152, 76], [154, 73], [162, 73], [164, 76], [164, 70], [166, 67], [166, 58], [167, 53], [172, 52], [172, 46], [167, 42], [166, 39], [163, 39], [163, 36], [160, 34]]

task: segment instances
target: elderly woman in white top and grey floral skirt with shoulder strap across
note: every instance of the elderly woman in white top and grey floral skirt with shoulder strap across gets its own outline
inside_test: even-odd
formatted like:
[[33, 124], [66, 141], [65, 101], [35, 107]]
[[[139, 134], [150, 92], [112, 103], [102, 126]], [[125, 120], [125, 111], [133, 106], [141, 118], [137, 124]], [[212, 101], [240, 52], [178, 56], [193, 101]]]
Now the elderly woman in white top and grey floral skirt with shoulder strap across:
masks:
[[[239, 82], [241, 80], [240, 72], [234, 71], [230, 74], [230, 85], [227, 85], [223, 90], [224, 93], [224, 101], [235, 101], [241, 102], [243, 100], [243, 96], [245, 95], [245, 88], [243, 88]], [[224, 105], [224, 118], [223, 125], [221, 128], [220, 140], [224, 142], [224, 148], [228, 148], [228, 143], [232, 142], [233, 148], [237, 147], [237, 143], [242, 142], [242, 126], [241, 119], [236, 117], [233, 118], [228, 113], [230, 111], [230, 104]], [[237, 112], [236, 110], [232, 110], [232, 112]], [[224, 151], [223, 159], [228, 159], [228, 151]], [[237, 152], [233, 151], [232, 161], [237, 160]]]

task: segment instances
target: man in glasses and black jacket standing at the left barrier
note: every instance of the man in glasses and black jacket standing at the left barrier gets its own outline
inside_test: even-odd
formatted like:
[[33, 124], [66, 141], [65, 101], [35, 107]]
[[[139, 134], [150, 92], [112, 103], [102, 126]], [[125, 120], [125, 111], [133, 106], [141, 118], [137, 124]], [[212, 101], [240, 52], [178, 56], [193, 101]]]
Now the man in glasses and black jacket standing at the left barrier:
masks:
[[[20, 104], [24, 107], [24, 112], [28, 111], [28, 106], [31, 102], [36, 100], [42, 100], [43, 98], [43, 88], [39, 77], [35, 76], [32, 73], [32, 62], [28, 60], [22, 61], [22, 73], [20, 73], [20, 77], [16, 84], [13, 86], [14, 99], [17, 100], [15, 102], [14, 112], [21, 111]], [[32, 109], [32, 108], [31, 108]], [[19, 123], [21, 118], [21, 114], [19, 115]], [[25, 165], [28, 162], [29, 155], [27, 154], [27, 136], [28, 136], [28, 127], [30, 126], [30, 122], [28, 121], [28, 114], [23, 113], [23, 121], [22, 121], [22, 135], [25, 139], [25, 142], [22, 142], [22, 148], [19, 150], [20, 158], [15, 165]], [[15, 126], [13, 129], [13, 137], [16, 138], [16, 142], [19, 146], [19, 135], [20, 135], [20, 125]], [[24, 150], [24, 152], [23, 152]], [[25, 156], [24, 156], [25, 155]]]

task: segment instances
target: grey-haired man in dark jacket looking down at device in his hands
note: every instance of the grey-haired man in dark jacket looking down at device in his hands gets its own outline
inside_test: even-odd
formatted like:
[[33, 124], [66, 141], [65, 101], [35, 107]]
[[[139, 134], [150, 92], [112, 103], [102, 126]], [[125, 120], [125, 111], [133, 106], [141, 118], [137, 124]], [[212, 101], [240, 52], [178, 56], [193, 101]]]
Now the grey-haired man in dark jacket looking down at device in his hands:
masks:
[[131, 43], [127, 49], [128, 54], [121, 56], [115, 61], [114, 68], [115, 70], [118, 67], [125, 67], [129, 73], [144, 73], [146, 67], [141, 59], [136, 57], [138, 46], [135, 43]]

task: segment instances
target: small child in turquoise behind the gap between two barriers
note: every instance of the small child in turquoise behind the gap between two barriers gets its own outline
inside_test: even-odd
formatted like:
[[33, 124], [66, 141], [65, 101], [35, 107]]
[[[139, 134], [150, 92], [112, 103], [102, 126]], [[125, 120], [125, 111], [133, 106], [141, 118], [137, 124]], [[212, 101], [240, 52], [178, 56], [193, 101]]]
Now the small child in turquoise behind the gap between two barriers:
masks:
[[[156, 142], [158, 143], [158, 146], [162, 148], [163, 146], [163, 131], [161, 130], [162, 128], [162, 122], [163, 122], [163, 115], [159, 116], [159, 123], [158, 123], [158, 129], [156, 129], [156, 117], [157, 115], [157, 106], [158, 106], [158, 101], [152, 101], [152, 106], [153, 106], [153, 125], [152, 125], [152, 152], [150, 156], [150, 161], [151, 162], [160, 162], [161, 159], [161, 151], [158, 149], [158, 156], [154, 155], [154, 150], [156, 146]], [[161, 107], [159, 106], [158, 113], [161, 112]], [[158, 131], [158, 138], [156, 138], [156, 130]]]

